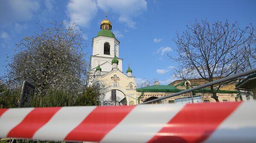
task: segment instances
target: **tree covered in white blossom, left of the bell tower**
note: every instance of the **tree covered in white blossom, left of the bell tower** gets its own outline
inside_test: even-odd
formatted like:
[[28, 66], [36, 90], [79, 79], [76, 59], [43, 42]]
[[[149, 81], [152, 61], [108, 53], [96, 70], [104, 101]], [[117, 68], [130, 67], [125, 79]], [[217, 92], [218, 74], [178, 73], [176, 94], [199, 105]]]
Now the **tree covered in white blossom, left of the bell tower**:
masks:
[[87, 77], [83, 36], [75, 23], [48, 24], [17, 44], [20, 50], [6, 66], [5, 84], [20, 86], [26, 80], [41, 95], [49, 88], [81, 91]]

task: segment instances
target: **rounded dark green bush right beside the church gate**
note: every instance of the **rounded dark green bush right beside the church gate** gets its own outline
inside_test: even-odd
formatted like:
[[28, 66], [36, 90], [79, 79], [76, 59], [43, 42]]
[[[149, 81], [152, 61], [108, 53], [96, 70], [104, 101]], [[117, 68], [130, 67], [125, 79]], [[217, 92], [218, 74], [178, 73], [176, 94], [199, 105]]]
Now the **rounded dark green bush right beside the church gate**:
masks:
[[92, 106], [97, 105], [97, 97], [99, 92], [94, 88], [87, 88], [85, 93], [77, 100], [77, 106]]

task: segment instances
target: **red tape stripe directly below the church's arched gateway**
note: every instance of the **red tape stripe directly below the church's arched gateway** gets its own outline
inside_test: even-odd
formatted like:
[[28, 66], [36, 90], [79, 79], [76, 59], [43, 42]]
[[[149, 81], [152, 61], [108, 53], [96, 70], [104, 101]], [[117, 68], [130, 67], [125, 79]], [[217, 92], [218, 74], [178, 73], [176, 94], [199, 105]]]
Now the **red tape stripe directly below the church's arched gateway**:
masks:
[[65, 140], [89, 140], [99, 142], [111, 129], [134, 108], [123, 107], [96, 107], [79, 126], [73, 129]]

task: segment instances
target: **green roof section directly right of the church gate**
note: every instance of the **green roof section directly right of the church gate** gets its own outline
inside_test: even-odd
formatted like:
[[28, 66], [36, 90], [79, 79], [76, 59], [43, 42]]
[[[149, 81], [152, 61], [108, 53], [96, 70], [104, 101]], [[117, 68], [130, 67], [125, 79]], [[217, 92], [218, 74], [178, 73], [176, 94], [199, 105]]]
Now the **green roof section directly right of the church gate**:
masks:
[[137, 89], [137, 91], [143, 92], [179, 92], [180, 90], [177, 89], [173, 85], [152, 85], [149, 87], [142, 87]]

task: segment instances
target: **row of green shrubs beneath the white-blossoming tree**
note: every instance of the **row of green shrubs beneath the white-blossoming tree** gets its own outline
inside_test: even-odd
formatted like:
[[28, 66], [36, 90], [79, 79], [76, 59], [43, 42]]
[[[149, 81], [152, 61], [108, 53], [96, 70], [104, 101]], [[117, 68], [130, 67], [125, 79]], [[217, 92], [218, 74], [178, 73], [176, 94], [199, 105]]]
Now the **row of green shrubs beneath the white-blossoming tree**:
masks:
[[[0, 93], [0, 108], [19, 107], [21, 89], [5, 89]], [[87, 88], [84, 93], [67, 90], [53, 90], [41, 96], [35, 94], [24, 107], [65, 107], [65, 106], [93, 106], [97, 104], [98, 90]]]

